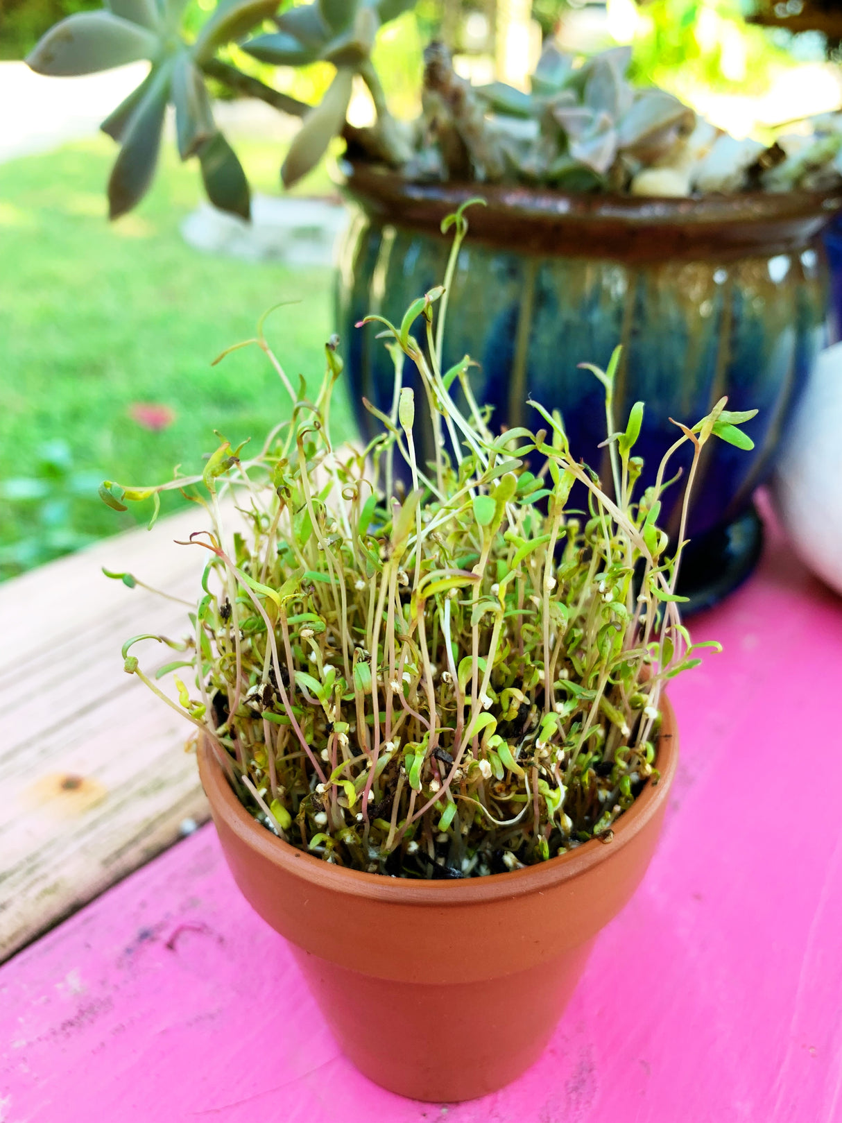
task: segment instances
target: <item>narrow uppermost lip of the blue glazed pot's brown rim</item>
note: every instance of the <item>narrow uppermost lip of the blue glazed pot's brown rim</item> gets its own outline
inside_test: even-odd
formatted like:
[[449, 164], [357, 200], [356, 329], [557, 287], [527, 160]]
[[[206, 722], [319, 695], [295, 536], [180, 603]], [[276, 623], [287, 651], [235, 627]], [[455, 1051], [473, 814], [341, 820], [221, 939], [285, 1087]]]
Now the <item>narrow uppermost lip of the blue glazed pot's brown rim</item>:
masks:
[[[842, 185], [825, 191], [741, 191], [670, 198], [619, 192], [565, 192], [529, 184], [409, 180], [365, 161], [341, 159], [340, 186], [353, 197], [397, 203], [427, 202], [448, 211], [468, 199], [485, 198], [489, 211], [510, 210], [521, 218], [568, 221], [623, 221], [635, 226], [776, 222], [826, 214], [842, 208]], [[475, 211], [472, 221], [479, 219]]]

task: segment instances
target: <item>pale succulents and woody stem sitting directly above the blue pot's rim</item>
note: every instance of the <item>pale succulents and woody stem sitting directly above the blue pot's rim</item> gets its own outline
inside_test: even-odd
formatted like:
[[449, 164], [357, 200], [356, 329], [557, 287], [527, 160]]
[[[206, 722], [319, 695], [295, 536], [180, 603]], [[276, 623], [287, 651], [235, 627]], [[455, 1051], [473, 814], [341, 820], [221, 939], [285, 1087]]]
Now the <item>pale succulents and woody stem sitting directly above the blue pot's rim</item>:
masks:
[[433, 44], [421, 143], [406, 172], [661, 197], [827, 188], [842, 179], [840, 115], [817, 118], [813, 137], [781, 138], [785, 155], [729, 136], [666, 90], [635, 89], [630, 62], [630, 47], [582, 63], [550, 43], [524, 93], [501, 82], [473, 88]]

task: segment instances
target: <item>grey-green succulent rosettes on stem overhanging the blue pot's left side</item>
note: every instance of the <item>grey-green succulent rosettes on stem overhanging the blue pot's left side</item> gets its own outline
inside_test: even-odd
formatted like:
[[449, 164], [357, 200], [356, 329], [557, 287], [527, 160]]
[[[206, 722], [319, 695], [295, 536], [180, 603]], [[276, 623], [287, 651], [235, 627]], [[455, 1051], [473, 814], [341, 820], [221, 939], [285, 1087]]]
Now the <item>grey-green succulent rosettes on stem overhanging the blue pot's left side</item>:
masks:
[[131, 210], [148, 190], [168, 103], [175, 108], [179, 154], [182, 159], [198, 157], [210, 201], [221, 210], [249, 217], [248, 182], [213, 122], [209, 77], [303, 118], [284, 164], [286, 184], [305, 175], [341, 134], [356, 73], [363, 75], [377, 104], [374, 152], [399, 162], [406, 154], [370, 65], [370, 49], [381, 24], [409, 8], [411, 0], [302, 4], [277, 17], [275, 33], [242, 44], [255, 57], [278, 64], [302, 65], [317, 58], [333, 63], [333, 81], [314, 107], [217, 57], [220, 47], [239, 42], [273, 17], [278, 0], [226, 0], [192, 42], [182, 31], [185, 6], [186, 0], [109, 0], [102, 11], [77, 12], [56, 24], [27, 58], [34, 71], [51, 75], [90, 74], [139, 60], [152, 64], [140, 85], [102, 122], [103, 131], [120, 144], [108, 185], [111, 218]]

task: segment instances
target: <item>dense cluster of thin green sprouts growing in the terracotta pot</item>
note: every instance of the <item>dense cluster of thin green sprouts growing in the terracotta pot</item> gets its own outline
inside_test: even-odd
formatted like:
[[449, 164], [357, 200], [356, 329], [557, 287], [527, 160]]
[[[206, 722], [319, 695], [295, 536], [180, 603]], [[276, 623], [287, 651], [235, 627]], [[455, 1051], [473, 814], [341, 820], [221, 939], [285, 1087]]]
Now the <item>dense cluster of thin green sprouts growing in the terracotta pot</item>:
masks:
[[[752, 416], [726, 413], [723, 399], [679, 426], [639, 497], [643, 405], [614, 431], [616, 354], [606, 372], [591, 368], [605, 386], [607, 485], [574, 460], [560, 418], [538, 403], [546, 429], [495, 435], [469, 360], [441, 369], [467, 229], [463, 213], [448, 225], [445, 285], [401, 325], [379, 321], [395, 395], [366, 449], [331, 442], [336, 340], [310, 401], [260, 329], [253, 341], [293, 399], [260, 454], [245, 459], [223, 441], [201, 477], [101, 489], [122, 508], [180, 487], [207, 509], [210, 529], [191, 536], [210, 555], [203, 595], [187, 640], [164, 640], [184, 654], [162, 670], [182, 675], [177, 709], [216, 747], [245, 806], [327, 861], [415, 878], [482, 876], [610, 841], [617, 815], [657, 783], [661, 692], [698, 663], [676, 603], [687, 499], [675, 554], [657, 526], [668, 462], [693, 446], [688, 494], [705, 442], [748, 446], [738, 426]], [[408, 358], [434, 428], [429, 465], [415, 457]], [[163, 637], [129, 640], [127, 672], [174, 705], [130, 654], [139, 639]]]

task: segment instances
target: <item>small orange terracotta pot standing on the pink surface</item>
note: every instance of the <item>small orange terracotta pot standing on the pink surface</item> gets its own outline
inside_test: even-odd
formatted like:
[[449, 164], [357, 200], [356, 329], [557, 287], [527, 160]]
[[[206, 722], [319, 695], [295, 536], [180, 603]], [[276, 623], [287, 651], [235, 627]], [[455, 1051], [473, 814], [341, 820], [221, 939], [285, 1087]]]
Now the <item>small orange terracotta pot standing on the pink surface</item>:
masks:
[[290, 941], [346, 1054], [392, 1092], [455, 1102], [494, 1092], [541, 1053], [596, 934], [649, 865], [677, 759], [665, 701], [660, 782], [611, 842], [455, 882], [328, 865], [256, 823], [207, 743], [199, 770], [237, 884]]

